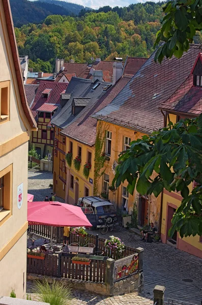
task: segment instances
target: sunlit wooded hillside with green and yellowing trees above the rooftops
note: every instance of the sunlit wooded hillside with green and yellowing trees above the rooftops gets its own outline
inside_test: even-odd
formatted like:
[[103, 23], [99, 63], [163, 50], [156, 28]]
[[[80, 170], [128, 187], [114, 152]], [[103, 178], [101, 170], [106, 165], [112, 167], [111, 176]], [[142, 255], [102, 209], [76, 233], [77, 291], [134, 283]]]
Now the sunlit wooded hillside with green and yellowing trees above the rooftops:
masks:
[[[41, 67], [44, 72], [51, 72], [56, 57], [79, 63], [91, 63], [92, 57], [148, 57], [154, 51], [162, 5], [148, 2], [127, 8], [104, 7], [99, 12], [81, 11], [80, 17], [48, 16], [42, 24], [15, 28], [19, 53], [27, 54], [35, 62], [30, 60], [34, 69]], [[199, 33], [196, 42], [201, 41]]]

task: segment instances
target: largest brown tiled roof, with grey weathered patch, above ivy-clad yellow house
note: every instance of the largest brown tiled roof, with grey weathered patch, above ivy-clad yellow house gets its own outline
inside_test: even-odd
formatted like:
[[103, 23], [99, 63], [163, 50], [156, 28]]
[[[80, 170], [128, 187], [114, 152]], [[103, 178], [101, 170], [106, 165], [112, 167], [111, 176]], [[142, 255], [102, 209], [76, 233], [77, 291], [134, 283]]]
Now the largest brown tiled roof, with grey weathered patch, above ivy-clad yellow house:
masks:
[[185, 82], [198, 52], [200, 45], [190, 45], [180, 59], [163, 59], [161, 65], [154, 62], [154, 52], [120, 94], [93, 116], [145, 133], [162, 128], [159, 106]]

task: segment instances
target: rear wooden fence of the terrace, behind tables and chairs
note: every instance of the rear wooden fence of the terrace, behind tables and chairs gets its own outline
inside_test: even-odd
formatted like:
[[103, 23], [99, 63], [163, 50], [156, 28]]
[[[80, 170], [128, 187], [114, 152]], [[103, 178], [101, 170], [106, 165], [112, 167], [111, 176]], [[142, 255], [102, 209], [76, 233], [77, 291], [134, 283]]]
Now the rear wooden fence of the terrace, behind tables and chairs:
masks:
[[[30, 230], [44, 237], [50, 238], [50, 226], [44, 225], [31, 225]], [[62, 241], [63, 239], [63, 229], [60, 227], [53, 227], [53, 239], [57, 241]], [[59, 240], [58, 240], [59, 239]], [[85, 246], [88, 243], [94, 243], [97, 245], [96, 251], [103, 251], [105, 256], [111, 257], [113, 259], [120, 259], [119, 253], [116, 252], [116, 249], [110, 250], [105, 247], [105, 239], [98, 237], [98, 235], [88, 234], [88, 236], [78, 236], [75, 234], [70, 234], [70, 243], [78, 242], [80, 246]], [[123, 257], [132, 255], [135, 253], [135, 250], [131, 247], [126, 246], [122, 254]]]

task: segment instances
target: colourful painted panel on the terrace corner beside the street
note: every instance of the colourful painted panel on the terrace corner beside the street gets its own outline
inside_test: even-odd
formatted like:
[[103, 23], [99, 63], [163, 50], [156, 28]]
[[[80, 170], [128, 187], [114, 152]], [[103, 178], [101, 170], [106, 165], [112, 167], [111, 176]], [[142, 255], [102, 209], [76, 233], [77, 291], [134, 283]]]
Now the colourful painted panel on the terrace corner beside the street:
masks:
[[138, 271], [138, 253], [115, 262], [114, 281], [126, 278]]

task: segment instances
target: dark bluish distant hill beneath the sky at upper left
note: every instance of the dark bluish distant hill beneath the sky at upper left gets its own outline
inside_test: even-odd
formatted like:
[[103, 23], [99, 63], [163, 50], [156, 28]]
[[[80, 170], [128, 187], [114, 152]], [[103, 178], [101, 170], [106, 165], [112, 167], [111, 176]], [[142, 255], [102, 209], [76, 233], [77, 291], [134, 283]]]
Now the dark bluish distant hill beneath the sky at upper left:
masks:
[[[58, 4], [57, 4], [58, 3]], [[15, 26], [23, 24], [42, 22], [49, 15], [78, 15], [81, 5], [66, 3], [61, 6], [60, 1], [27, 1], [10, 0], [13, 22]]]

